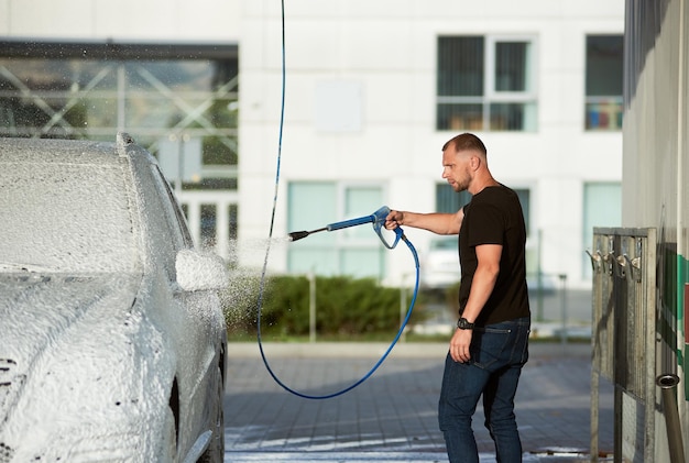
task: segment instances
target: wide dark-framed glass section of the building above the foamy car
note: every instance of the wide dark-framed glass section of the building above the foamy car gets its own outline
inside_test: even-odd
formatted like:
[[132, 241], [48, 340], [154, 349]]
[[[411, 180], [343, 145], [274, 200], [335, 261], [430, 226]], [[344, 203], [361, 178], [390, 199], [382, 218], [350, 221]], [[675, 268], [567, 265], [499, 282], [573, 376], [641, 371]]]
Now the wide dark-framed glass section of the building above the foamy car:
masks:
[[175, 188], [237, 189], [238, 81], [234, 46], [0, 41], [0, 136], [127, 130]]

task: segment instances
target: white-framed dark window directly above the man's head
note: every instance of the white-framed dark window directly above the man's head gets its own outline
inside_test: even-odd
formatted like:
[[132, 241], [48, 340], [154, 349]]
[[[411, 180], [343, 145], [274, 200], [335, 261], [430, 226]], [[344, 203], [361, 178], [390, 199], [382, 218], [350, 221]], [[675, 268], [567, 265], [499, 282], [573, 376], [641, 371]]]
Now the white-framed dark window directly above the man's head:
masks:
[[532, 37], [438, 37], [437, 130], [536, 130]]

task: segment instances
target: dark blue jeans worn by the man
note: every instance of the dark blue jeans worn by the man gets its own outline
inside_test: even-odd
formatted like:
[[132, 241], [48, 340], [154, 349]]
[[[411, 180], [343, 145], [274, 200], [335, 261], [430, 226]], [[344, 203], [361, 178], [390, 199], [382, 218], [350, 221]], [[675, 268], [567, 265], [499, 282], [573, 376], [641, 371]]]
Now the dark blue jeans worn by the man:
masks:
[[471, 360], [445, 361], [438, 422], [450, 463], [478, 463], [479, 452], [471, 418], [483, 395], [485, 427], [495, 442], [499, 463], [522, 461], [522, 442], [514, 417], [522, 366], [528, 359], [529, 318], [475, 328]]

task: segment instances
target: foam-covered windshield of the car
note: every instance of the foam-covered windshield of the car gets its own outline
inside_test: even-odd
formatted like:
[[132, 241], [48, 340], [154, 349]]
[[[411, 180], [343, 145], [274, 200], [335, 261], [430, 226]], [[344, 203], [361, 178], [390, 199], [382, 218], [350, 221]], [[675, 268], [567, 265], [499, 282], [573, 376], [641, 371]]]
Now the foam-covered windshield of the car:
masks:
[[1, 164], [0, 271], [15, 264], [76, 273], [139, 268], [125, 175], [121, 164]]

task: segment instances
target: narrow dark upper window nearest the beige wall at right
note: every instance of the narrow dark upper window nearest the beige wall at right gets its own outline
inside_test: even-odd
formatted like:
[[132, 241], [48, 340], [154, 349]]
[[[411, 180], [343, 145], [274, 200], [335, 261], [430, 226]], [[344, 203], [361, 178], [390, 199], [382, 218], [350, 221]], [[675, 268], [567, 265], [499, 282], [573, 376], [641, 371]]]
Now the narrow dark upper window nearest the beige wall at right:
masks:
[[587, 36], [586, 128], [622, 129], [623, 36]]

